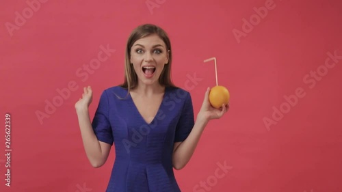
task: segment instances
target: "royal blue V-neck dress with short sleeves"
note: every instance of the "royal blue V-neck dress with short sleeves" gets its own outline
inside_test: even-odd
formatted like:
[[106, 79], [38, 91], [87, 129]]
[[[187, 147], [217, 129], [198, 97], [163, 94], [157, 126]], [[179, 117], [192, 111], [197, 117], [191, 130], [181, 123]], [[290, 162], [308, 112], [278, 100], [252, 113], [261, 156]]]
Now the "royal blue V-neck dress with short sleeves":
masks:
[[127, 93], [120, 86], [104, 90], [92, 121], [98, 140], [115, 146], [106, 192], [181, 191], [172, 151], [194, 126], [192, 97], [179, 87], [166, 87], [159, 111], [148, 124]]

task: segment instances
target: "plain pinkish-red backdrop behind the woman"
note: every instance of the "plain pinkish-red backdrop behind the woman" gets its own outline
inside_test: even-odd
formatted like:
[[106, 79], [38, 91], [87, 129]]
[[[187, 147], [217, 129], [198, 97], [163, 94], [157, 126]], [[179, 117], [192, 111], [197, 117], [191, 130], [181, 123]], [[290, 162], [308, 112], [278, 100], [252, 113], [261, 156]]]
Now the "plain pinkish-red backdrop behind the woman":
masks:
[[[230, 111], [209, 123], [189, 164], [175, 172], [182, 191], [342, 191], [342, 57], [326, 60], [342, 55], [341, 1], [51, 0], [35, 4], [14, 29], [16, 12], [23, 16], [33, 1], [0, 8], [0, 191], [105, 191], [114, 150], [103, 167], [91, 167], [74, 105], [91, 85], [92, 116], [101, 92], [122, 82], [125, 43], [142, 23], [170, 35], [172, 77], [192, 94], [196, 114], [206, 87], [215, 85], [213, 61], [205, 59], [217, 58], [218, 83], [231, 93]], [[254, 8], [265, 4], [267, 14], [248, 31], [244, 18], [258, 18]], [[246, 33], [236, 38], [233, 29]], [[101, 45], [116, 51], [87, 77], [77, 74]], [[200, 80], [187, 86], [194, 74]], [[36, 112], [45, 113], [46, 101], [70, 82], [77, 89], [40, 122]], [[302, 98], [286, 104], [297, 89]], [[272, 118], [277, 110], [283, 116]], [[11, 187], [4, 180], [5, 113], [12, 115]], [[231, 169], [215, 176], [224, 161]]]

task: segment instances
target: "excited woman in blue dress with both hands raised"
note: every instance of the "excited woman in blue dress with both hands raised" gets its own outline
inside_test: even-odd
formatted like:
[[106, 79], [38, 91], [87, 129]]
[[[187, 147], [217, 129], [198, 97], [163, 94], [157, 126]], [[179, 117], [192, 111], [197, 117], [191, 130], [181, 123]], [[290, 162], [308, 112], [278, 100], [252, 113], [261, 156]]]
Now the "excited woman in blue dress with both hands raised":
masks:
[[115, 144], [107, 192], [181, 191], [173, 168], [185, 167], [209, 120], [221, 118], [228, 105], [213, 109], [208, 88], [194, 121], [192, 97], [171, 81], [170, 40], [156, 25], [133, 30], [125, 63], [124, 83], [103, 91], [92, 122], [90, 86], [75, 104], [88, 159], [101, 167]]

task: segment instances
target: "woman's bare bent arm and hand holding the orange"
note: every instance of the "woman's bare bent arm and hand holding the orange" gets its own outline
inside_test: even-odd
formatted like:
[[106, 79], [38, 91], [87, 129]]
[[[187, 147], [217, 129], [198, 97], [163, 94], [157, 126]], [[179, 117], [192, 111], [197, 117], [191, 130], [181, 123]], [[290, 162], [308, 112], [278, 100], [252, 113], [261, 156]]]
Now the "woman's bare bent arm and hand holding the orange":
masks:
[[214, 109], [211, 107], [209, 102], [209, 92], [210, 89], [208, 88], [207, 92], [205, 92], [205, 99], [202, 103], [200, 112], [197, 115], [197, 119], [192, 131], [184, 141], [174, 143], [172, 164], [177, 170], [183, 169], [183, 167], [185, 167], [185, 165], [187, 165], [191, 159], [198, 141], [200, 140], [200, 136], [202, 135], [202, 132], [209, 121], [221, 118], [222, 115], [224, 115], [224, 113], [226, 113], [226, 111], [229, 109], [229, 105], [223, 105], [222, 109]]

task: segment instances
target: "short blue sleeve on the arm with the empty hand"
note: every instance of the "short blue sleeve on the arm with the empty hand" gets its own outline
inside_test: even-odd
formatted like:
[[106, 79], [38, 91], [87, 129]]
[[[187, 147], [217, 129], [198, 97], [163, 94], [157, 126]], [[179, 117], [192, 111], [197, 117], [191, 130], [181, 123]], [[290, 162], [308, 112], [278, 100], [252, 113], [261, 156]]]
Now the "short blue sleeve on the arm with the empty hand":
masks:
[[92, 129], [98, 139], [110, 145], [113, 144], [114, 138], [111, 131], [111, 125], [108, 118], [109, 114], [109, 102], [107, 94], [104, 91], [101, 94], [98, 102], [98, 107], [95, 111], [94, 118], [92, 120]]

